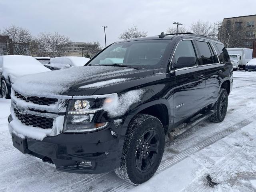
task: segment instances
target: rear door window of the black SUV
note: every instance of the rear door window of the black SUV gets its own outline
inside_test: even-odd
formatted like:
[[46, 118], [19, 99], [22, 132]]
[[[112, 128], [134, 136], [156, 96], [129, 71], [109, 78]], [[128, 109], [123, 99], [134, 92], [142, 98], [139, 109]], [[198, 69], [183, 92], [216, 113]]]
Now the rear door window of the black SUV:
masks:
[[196, 41], [199, 51], [199, 63], [202, 65], [218, 63], [216, 61], [216, 55], [213, 54], [213, 50], [208, 42]]

